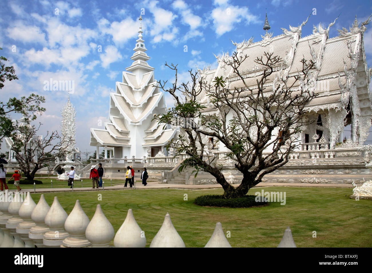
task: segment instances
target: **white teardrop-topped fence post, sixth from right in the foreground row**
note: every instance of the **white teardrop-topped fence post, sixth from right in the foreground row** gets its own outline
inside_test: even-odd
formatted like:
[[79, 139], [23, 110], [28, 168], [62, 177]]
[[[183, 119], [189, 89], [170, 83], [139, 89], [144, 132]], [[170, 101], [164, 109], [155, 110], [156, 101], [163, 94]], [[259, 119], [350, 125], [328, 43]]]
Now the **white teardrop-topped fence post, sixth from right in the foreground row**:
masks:
[[61, 247], [89, 247], [91, 243], [85, 236], [89, 218], [76, 200], [75, 206], [65, 221], [65, 230], [69, 236], [62, 242]]

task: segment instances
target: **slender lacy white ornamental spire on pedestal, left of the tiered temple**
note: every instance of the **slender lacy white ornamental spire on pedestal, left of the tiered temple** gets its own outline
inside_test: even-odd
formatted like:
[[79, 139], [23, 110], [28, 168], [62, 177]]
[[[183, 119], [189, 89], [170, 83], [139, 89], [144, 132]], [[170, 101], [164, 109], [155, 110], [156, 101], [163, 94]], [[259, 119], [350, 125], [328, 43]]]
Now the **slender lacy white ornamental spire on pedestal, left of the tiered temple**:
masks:
[[[67, 146], [65, 144], [64, 148], [67, 150], [66, 160], [62, 169], [64, 172], [58, 175], [58, 179], [68, 180], [68, 175], [66, 172], [70, 172], [71, 167], [75, 165], [73, 161], [74, 153], [80, 153], [75, 147], [75, 134], [76, 134], [76, 123], [75, 123], [76, 111], [75, 107], [70, 102], [70, 93], [68, 94], [67, 103], [64, 105], [61, 111], [61, 134], [64, 139], [71, 139], [71, 143]], [[58, 160], [57, 160], [58, 161]], [[80, 179], [80, 176], [75, 174], [75, 179]]]

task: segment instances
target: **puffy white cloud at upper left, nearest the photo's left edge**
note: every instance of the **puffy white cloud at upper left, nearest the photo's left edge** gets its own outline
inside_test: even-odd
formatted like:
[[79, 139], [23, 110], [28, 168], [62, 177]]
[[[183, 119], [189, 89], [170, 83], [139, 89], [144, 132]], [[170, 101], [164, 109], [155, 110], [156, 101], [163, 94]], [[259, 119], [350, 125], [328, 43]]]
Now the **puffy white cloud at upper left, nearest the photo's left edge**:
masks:
[[45, 34], [37, 26], [27, 26], [21, 21], [15, 22], [13, 27], [6, 29], [7, 36], [13, 40], [28, 43], [41, 43], [45, 45]]

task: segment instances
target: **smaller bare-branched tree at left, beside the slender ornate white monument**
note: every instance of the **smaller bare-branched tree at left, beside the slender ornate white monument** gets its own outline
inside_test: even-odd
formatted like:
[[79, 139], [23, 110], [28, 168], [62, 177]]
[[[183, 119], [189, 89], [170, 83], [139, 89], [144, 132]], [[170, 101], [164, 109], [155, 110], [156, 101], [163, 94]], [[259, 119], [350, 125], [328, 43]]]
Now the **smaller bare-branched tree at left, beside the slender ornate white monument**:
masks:
[[[15, 152], [15, 158], [19, 168], [25, 174], [26, 178], [32, 181], [35, 173], [44, 167], [47, 167], [51, 158], [64, 157], [70, 139], [61, 138], [57, 131], [52, 131], [45, 137], [38, 136], [38, 128], [26, 124], [17, 128], [17, 133], [13, 135], [12, 150]], [[67, 144], [67, 145], [66, 145]]]

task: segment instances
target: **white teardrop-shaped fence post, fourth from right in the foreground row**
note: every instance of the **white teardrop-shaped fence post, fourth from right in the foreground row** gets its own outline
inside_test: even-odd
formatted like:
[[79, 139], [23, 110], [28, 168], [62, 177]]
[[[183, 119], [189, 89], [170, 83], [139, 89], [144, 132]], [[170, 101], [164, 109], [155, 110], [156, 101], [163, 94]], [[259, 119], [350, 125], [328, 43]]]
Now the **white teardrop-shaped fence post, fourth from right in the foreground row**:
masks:
[[145, 247], [146, 237], [144, 231], [134, 219], [132, 209], [128, 209], [124, 223], [114, 238], [115, 247]]

